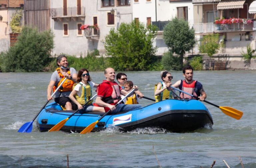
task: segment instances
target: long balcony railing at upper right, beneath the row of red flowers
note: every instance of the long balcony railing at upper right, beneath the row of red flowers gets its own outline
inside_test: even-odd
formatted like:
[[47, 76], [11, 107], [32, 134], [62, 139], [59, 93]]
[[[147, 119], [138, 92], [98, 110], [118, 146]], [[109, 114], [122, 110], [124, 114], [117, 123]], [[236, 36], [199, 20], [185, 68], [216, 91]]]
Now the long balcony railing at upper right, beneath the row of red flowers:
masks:
[[195, 33], [212, 33], [212, 32], [237, 32], [244, 30], [253, 30], [253, 23], [231, 23], [216, 25], [214, 23], [193, 24]]

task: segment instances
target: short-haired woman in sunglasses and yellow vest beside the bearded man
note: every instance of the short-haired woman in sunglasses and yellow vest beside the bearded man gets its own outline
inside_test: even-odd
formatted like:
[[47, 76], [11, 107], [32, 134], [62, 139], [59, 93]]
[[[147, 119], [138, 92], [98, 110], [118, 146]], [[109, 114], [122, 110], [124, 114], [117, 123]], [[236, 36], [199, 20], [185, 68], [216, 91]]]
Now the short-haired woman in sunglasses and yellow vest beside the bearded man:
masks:
[[177, 96], [172, 92], [169, 91], [168, 88], [172, 85], [173, 76], [168, 71], [161, 72], [161, 79], [163, 82], [159, 82], [155, 84], [155, 102], [162, 101], [165, 99], [171, 99], [172, 97], [177, 98]]

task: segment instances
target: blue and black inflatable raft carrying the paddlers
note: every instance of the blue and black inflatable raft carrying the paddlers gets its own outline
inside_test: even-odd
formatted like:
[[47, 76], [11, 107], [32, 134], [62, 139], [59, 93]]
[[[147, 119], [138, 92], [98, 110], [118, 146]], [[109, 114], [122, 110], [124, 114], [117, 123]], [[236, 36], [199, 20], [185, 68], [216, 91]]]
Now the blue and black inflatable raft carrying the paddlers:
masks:
[[[73, 112], [61, 110], [58, 104], [50, 103], [37, 117], [37, 126], [41, 132], [48, 131]], [[81, 132], [103, 114], [103, 112], [77, 112], [60, 130]], [[186, 132], [212, 125], [212, 116], [202, 102], [169, 99], [132, 111], [110, 113], [97, 123], [92, 132], [104, 130], [110, 126], [117, 126], [124, 132], [145, 127], [163, 128], [172, 132]]]

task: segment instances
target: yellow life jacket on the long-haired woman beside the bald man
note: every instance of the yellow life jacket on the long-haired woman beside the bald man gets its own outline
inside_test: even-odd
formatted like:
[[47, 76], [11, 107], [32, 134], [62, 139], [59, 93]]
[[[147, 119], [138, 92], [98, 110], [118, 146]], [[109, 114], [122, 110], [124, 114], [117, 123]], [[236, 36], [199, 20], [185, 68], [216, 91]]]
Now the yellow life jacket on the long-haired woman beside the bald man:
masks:
[[[91, 96], [92, 96], [92, 87], [89, 83], [87, 83], [86, 86], [84, 86], [83, 84], [81, 83], [78, 83], [82, 86], [82, 93], [81, 93], [81, 96], [79, 97], [77, 94], [75, 94], [75, 98], [76, 100], [81, 104], [81, 105], [84, 105], [85, 102], [87, 102], [88, 100], [90, 100]], [[73, 85], [73, 89], [74, 87], [76, 86], [77, 84], [74, 84]], [[92, 103], [92, 100], [89, 101], [87, 103], [87, 105], [91, 104]]]

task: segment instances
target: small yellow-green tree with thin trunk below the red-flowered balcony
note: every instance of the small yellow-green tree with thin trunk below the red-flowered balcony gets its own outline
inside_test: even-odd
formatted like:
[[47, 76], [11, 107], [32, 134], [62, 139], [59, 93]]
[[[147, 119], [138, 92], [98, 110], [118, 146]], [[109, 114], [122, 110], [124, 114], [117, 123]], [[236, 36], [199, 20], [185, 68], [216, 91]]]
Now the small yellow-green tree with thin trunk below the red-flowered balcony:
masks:
[[[224, 38], [224, 37], [223, 37]], [[200, 53], [206, 53], [210, 58], [218, 53], [218, 50], [223, 47], [223, 40], [219, 43], [219, 34], [209, 34], [203, 36], [199, 46]], [[211, 68], [211, 62], [210, 62]]]

